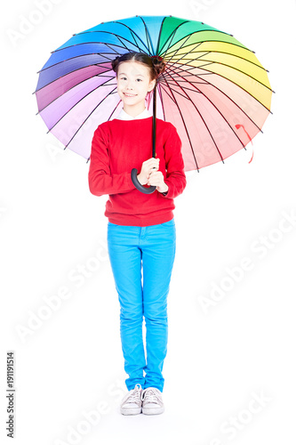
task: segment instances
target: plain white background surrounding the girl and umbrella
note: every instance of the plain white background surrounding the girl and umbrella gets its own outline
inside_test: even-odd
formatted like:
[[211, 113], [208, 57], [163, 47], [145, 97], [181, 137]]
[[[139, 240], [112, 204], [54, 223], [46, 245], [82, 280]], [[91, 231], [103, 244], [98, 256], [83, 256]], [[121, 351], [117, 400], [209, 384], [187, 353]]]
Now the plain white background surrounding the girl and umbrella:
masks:
[[[12, 350], [13, 443], [293, 443], [296, 223], [287, 215], [296, 213], [295, 3], [49, 3], [51, 10], [16, 40], [12, 31], [40, 11], [37, 1], [6, 2], [2, 16], [1, 437], [8, 440], [5, 357]], [[127, 375], [107, 252], [108, 196], [92, 196], [89, 165], [46, 134], [32, 94], [36, 72], [70, 36], [136, 14], [172, 14], [233, 34], [256, 52], [276, 91], [274, 114], [253, 146], [224, 165], [190, 172], [175, 198], [165, 411], [151, 417], [119, 412]], [[244, 257], [252, 268], [239, 276]], [[82, 277], [81, 265], [88, 277], [78, 287], [70, 276]], [[239, 280], [231, 281], [235, 268]], [[46, 297], [63, 287], [68, 299], [21, 336], [32, 314], [49, 307]], [[221, 289], [216, 301], [214, 287]], [[214, 304], [207, 311], [202, 296]], [[91, 411], [93, 425], [85, 423]]]

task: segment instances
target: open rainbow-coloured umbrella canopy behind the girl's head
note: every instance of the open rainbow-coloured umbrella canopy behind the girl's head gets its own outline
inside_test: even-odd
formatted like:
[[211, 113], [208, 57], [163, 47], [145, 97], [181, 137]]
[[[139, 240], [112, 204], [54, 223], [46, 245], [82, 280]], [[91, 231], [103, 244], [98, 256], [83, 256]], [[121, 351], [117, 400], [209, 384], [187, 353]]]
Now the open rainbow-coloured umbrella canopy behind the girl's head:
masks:
[[[166, 62], [156, 117], [177, 128], [185, 171], [223, 161], [261, 131], [273, 92], [255, 53], [203, 22], [134, 16], [75, 34], [39, 71], [38, 113], [65, 148], [89, 159], [97, 126], [119, 114], [111, 61], [128, 52]], [[146, 106], [152, 114], [151, 93]]]

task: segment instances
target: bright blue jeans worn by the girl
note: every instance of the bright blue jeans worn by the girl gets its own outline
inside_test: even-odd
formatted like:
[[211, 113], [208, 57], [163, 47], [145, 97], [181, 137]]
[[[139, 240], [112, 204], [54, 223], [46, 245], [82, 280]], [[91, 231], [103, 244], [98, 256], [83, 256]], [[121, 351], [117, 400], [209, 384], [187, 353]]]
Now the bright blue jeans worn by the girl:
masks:
[[108, 222], [107, 238], [120, 303], [124, 370], [129, 376], [125, 380], [126, 387], [130, 391], [135, 384], [140, 384], [143, 389], [153, 386], [163, 392], [162, 371], [168, 340], [167, 295], [176, 252], [174, 218], [145, 227]]

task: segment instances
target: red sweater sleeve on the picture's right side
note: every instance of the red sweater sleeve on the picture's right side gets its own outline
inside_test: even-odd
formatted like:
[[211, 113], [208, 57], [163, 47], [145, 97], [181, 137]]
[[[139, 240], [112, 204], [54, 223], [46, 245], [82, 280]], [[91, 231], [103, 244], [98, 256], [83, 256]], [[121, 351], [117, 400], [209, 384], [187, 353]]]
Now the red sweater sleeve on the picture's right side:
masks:
[[169, 190], [164, 198], [176, 198], [185, 189], [187, 181], [184, 172], [184, 161], [181, 154], [182, 142], [176, 127], [171, 124], [171, 132], [164, 144], [166, 178], [164, 182]]

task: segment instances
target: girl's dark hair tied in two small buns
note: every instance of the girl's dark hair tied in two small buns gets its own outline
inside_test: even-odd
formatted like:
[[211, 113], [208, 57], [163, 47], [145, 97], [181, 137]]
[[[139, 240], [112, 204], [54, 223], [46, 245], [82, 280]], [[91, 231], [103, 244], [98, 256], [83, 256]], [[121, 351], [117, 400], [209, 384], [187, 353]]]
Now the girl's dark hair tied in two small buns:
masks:
[[124, 53], [121, 56], [117, 56], [113, 61], [111, 61], [112, 69], [116, 72], [118, 71], [118, 65], [122, 61], [139, 61], [143, 63], [150, 69], [150, 80], [156, 79], [160, 74], [164, 72], [165, 62], [160, 56], [149, 56], [146, 53]]

